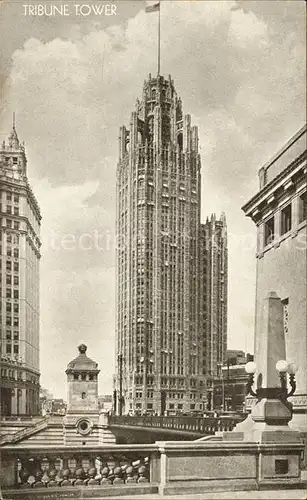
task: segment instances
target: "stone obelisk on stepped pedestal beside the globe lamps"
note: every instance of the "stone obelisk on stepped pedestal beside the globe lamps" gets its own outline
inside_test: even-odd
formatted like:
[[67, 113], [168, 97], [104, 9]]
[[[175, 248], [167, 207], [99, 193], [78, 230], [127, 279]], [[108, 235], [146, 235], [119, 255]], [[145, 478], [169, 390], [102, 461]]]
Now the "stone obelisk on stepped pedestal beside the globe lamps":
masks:
[[282, 384], [276, 369], [276, 363], [284, 360], [286, 354], [283, 306], [274, 292], [264, 301], [260, 331], [261, 336], [256, 339], [257, 402], [246, 420], [232, 432], [224, 432], [222, 439], [258, 445], [260, 487], [300, 484], [304, 445], [300, 432], [289, 425], [293, 407], [287, 400], [285, 376]]

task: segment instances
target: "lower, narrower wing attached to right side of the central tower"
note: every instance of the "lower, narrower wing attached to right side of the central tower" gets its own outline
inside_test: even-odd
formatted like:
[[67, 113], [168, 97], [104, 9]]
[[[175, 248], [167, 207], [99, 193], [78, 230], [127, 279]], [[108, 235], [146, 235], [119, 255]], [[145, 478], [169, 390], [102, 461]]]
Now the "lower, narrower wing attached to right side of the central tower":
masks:
[[201, 315], [203, 373], [216, 377], [226, 359], [228, 246], [226, 216], [215, 214], [201, 225]]

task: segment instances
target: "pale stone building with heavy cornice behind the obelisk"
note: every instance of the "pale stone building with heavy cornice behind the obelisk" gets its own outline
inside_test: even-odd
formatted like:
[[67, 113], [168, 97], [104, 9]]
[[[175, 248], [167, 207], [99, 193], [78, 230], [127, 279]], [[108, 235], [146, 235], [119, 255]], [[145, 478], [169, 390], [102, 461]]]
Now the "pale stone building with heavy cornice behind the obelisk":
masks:
[[262, 356], [261, 311], [274, 291], [284, 307], [287, 361], [298, 365], [291, 425], [307, 426], [306, 126], [259, 171], [259, 192], [243, 207], [257, 226], [255, 355]]

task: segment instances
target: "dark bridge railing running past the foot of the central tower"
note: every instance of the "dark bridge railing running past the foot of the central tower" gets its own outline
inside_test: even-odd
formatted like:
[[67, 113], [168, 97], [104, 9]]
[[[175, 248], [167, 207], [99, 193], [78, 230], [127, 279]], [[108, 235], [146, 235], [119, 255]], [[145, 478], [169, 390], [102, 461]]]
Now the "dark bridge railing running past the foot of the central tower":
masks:
[[110, 415], [110, 426], [135, 426], [174, 430], [178, 432], [213, 435], [215, 432], [231, 431], [242, 417], [160, 417], [160, 416], [129, 416]]

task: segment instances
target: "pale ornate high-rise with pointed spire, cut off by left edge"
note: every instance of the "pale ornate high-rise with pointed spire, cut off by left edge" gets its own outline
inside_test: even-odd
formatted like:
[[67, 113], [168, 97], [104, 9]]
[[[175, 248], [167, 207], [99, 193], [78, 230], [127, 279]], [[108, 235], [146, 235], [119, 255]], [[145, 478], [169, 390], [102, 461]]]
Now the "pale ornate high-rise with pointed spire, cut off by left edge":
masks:
[[15, 125], [0, 148], [1, 414], [39, 413], [38, 203]]

